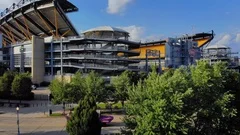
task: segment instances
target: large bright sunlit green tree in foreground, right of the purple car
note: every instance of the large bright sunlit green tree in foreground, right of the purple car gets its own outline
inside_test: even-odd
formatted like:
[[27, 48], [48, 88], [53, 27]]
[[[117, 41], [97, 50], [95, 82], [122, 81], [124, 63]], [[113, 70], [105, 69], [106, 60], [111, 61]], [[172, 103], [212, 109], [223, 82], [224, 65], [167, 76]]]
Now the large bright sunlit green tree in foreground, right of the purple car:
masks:
[[183, 100], [189, 97], [189, 75], [185, 69], [177, 69], [159, 76], [155, 70], [148, 78], [129, 90], [124, 119], [134, 134], [186, 134]]

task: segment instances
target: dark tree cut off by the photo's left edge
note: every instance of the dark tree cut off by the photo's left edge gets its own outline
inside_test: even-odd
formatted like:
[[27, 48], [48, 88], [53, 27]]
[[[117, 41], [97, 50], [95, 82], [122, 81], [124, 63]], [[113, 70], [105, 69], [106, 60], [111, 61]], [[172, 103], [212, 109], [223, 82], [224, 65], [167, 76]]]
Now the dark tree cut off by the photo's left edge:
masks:
[[14, 80], [15, 73], [7, 71], [0, 79], [0, 95], [2, 98], [10, 99], [12, 82]]

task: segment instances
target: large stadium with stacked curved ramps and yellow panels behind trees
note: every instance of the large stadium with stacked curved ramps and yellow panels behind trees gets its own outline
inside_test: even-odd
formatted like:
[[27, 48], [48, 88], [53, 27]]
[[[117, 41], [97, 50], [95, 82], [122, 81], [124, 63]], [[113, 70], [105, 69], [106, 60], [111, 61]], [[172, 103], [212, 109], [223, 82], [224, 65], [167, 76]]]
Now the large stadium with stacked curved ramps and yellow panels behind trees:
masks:
[[114, 76], [194, 64], [214, 33], [184, 35], [154, 42], [129, 41], [129, 33], [110, 26], [79, 34], [67, 14], [78, 8], [67, 0], [21, 0], [1, 13], [0, 60], [11, 70], [31, 72], [34, 83], [95, 70]]

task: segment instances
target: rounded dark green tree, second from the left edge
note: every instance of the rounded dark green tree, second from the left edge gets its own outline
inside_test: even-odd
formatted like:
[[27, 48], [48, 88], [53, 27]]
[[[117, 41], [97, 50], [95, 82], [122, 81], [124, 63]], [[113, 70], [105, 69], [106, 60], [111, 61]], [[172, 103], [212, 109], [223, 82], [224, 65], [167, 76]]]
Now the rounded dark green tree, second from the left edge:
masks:
[[32, 81], [28, 73], [17, 74], [12, 82], [12, 94], [21, 99], [28, 97], [32, 91]]

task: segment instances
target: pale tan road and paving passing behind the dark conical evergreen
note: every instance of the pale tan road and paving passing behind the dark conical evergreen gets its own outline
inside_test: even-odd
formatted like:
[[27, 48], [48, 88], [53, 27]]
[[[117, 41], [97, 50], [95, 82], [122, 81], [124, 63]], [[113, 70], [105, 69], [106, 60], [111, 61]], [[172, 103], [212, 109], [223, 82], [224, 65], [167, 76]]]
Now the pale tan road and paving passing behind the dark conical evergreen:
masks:
[[[37, 92], [36, 92], [37, 91]], [[37, 94], [48, 94], [48, 90], [36, 90]], [[21, 135], [67, 135], [65, 117], [48, 117], [47, 101], [25, 101], [31, 107], [20, 108], [20, 133]], [[62, 106], [51, 106], [54, 113], [61, 113]], [[0, 107], [0, 135], [17, 134], [16, 108]], [[112, 115], [114, 120], [106, 127], [102, 127], [102, 134], [120, 133], [123, 127], [122, 115]]]

